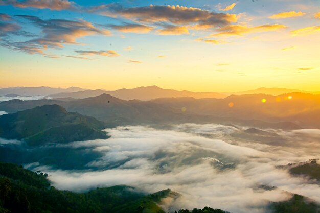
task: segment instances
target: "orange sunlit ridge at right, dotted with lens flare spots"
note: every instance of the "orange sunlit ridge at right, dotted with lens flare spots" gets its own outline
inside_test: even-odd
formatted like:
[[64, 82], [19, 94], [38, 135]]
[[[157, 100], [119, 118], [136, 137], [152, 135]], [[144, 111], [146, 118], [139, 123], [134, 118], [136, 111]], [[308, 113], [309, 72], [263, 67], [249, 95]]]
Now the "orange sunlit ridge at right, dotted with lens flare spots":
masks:
[[224, 99], [162, 98], [152, 102], [170, 106], [175, 111], [185, 107], [188, 112], [203, 115], [266, 122], [290, 121], [305, 128], [320, 128], [320, 95], [314, 94], [245, 94]]

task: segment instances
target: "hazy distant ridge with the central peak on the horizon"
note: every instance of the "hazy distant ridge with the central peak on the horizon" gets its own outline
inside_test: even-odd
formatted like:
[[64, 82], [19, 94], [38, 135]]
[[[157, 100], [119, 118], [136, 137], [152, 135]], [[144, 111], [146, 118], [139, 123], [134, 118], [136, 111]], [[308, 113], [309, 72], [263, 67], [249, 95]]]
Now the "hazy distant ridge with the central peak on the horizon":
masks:
[[133, 100], [139, 99], [142, 101], [147, 101], [151, 99], [164, 98], [164, 97], [193, 97], [196, 99], [201, 98], [225, 98], [225, 94], [220, 94], [216, 92], [191, 92], [191, 91], [177, 91], [173, 89], [162, 89], [157, 86], [146, 86], [138, 87], [134, 89], [118, 89], [115, 91], [105, 91], [101, 89], [97, 90], [86, 90], [71, 93], [60, 93], [50, 95], [52, 98], [66, 98], [71, 97], [75, 99], [84, 99], [89, 97], [99, 96], [100, 94], [110, 94], [116, 98], [122, 100]]

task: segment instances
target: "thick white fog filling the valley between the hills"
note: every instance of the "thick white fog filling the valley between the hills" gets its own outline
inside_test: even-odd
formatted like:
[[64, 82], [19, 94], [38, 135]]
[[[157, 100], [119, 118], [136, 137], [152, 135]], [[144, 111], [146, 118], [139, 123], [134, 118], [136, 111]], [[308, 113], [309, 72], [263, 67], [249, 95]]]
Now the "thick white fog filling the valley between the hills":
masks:
[[[319, 129], [180, 124], [105, 131], [111, 138], [58, 145], [86, 147], [103, 154], [83, 170], [35, 167], [36, 163], [26, 168], [48, 173], [56, 188], [75, 192], [119, 184], [146, 193], [170, 188], [180, 194], [163, 201], [162, 207], [170, 212], [204, 206], [234, 213], [265, 212], [270, 201], [287, 200], [290, 193], [320, 202], [317, 182], [277, 167], [319, 158]], [[276, 187], [269, 190], [262, 185]]]

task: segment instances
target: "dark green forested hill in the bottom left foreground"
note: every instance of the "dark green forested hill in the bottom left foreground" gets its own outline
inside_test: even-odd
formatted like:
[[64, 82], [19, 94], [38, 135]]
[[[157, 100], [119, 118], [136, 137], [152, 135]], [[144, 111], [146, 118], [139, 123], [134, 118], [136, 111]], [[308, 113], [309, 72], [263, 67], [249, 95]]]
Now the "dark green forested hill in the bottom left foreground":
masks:
[[87, 193], [56, 190], [47, 174], [0, 162], [0, 212], [150, 212], [164, 213], [157, 206], [171, 191], [144, 195], [129, 186], [97, 188]]

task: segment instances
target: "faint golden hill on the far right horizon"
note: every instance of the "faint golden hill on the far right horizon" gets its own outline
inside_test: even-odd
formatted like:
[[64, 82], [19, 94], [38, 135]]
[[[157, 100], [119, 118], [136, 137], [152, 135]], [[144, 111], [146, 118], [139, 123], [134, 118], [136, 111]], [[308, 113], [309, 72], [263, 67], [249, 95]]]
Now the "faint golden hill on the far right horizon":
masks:
[[286, 93], [292, 93], [292, 92], [302, 92], [302, 93], [310, 93], [310, 94], [320, 94], [320, 91], [303, 91], [299, 89], [287, 89], [287, 88], [266, 88], [266, 87], [260, 87], [258, 89], [252, 89], [242, 92], [230, 92], [230, 93], [224, 93], [227, 95], [231, 94], [271, 94], [272, 96], [279, 96], [280, 94], [286, 94]]

